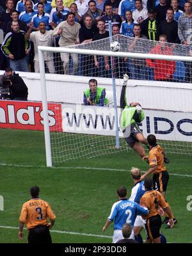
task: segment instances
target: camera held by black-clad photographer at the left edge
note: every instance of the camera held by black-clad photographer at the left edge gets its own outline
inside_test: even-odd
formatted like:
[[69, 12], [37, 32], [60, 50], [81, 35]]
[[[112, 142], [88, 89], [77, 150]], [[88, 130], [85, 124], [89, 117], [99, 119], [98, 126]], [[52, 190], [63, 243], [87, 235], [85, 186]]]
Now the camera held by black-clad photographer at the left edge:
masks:
[[0, 76], [0, 99], [1, 100], [10, 100], [10, 86], [12, 86], [12, 82], [8, 77], [1, 75]]

